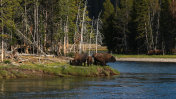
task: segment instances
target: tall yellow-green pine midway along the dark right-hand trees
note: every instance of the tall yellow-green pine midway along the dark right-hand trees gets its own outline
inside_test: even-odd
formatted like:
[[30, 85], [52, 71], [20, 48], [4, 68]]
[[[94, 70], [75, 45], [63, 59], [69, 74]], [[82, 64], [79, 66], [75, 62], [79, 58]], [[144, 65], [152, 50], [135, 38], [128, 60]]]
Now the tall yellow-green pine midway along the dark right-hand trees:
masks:
[[146, 52], [151, 49], [149, 4], [147, 0], [136, 0], [134, 2], [137, 47], [139, 51]]

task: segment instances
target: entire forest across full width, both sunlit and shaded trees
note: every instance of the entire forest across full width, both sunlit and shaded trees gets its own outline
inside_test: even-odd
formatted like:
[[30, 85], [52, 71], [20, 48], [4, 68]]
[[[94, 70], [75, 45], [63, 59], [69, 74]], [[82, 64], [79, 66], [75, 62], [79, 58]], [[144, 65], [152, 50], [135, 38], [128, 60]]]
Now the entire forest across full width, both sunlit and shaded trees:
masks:
[[[1, 0], [1, 55], [176, 51], [175, 0]], [[95, 45], [95, 46], [94, 46]]]

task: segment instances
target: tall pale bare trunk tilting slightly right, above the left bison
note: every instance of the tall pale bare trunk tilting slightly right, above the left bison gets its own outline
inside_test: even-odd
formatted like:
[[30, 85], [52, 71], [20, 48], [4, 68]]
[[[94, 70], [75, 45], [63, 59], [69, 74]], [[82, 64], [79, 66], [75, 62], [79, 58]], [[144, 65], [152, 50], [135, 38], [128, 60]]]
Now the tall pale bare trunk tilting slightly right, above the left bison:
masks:
[[83, 20], [82, 20], [82, 27], [81, 27], [81, 41], [80, 41], [80, 46], [79, 46], [79, 53], [82, 53], [82, 43], [83, 43], [83, 33], [84, 33], [84, 21], [85, 21], [86, 9], [87, 9], [87, 0], [85, 1], [85, 5], [84, 5]]

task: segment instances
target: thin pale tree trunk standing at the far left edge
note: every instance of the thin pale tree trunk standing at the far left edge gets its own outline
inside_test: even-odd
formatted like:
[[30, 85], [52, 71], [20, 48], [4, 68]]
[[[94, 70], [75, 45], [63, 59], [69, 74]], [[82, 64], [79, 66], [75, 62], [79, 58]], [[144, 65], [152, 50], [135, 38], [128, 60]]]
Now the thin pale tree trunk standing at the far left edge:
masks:
[[[1, 8], [2, 8], [2, 0], [1, 0]], [[1, 16], [3, 15], [3, 10], [1, 10]], [[2, 17], [3, 18], [3, 17]], [[4, 35], [4, 24], [3, 24], [3, 19], [1, 19], [1, 21], [2, 21], [2, 26], [1, 26], [1, 28], [2, 28], [2, 41], [1, 41], [1, 61], [3, 62], [3, 60], [4, 60], [4, 41], [3, 41], [3, 35]]]

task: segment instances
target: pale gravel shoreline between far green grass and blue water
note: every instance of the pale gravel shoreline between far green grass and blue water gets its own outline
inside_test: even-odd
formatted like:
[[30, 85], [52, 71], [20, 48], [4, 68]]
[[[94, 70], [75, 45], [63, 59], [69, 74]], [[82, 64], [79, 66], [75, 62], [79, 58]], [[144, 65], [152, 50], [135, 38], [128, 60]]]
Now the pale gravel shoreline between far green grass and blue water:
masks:
[[176, 63], [176, 58], [117, 58], [116, 61]]

